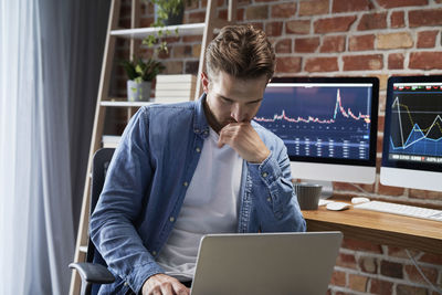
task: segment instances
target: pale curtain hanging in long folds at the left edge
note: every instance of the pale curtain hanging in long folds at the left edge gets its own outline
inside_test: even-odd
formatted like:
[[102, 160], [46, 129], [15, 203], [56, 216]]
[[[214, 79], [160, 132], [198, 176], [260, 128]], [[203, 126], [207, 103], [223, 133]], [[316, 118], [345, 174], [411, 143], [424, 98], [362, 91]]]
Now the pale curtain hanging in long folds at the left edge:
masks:
[[0, 0], [0, 294], [67, 294], [69, 1]]

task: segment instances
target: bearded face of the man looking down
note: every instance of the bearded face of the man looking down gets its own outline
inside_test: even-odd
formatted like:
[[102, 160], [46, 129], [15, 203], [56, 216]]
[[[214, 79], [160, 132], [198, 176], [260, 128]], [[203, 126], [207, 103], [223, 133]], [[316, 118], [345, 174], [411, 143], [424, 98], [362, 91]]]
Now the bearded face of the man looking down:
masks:
[[266, 75], [257, 78], [240, 80], [222, 71], [210, 78], [202, 74], [202, 85], [207, 93], [209, 125], [219, 131], [233, 122], [250, 122], [257, 113], [267, 85]]

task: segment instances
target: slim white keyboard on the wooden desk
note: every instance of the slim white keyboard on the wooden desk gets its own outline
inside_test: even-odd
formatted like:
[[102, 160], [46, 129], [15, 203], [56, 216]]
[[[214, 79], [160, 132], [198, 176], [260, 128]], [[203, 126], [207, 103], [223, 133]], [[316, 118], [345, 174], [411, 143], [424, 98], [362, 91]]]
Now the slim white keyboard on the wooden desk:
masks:
[[409, 204], [369, 201], [366, 203], [355, 204], [354, 208], [442, 222], [442, 210], [434, 210]]

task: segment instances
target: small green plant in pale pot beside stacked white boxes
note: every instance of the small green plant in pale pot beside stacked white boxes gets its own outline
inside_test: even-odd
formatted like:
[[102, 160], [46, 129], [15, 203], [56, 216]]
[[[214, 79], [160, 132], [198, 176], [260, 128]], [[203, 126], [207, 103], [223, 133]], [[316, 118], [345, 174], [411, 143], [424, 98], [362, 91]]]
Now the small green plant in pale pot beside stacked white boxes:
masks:
[[146, 62], [140, 57], [123, 61], [122, 65], [129, 78], [127, 81], [127, 99], [129, 102], [148, 102], [151, 82], [165, 66], [151, 57]]

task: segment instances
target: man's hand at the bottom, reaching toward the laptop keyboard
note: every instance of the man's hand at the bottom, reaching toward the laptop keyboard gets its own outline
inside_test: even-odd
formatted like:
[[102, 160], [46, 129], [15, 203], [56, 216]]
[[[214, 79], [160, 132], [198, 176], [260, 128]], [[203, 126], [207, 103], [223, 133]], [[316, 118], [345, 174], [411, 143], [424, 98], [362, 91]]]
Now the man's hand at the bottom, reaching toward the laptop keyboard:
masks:
[[166, 274], [155, 274], [143, 285], [143, 295], [189, 295], [190, 289], [177, 278]]

